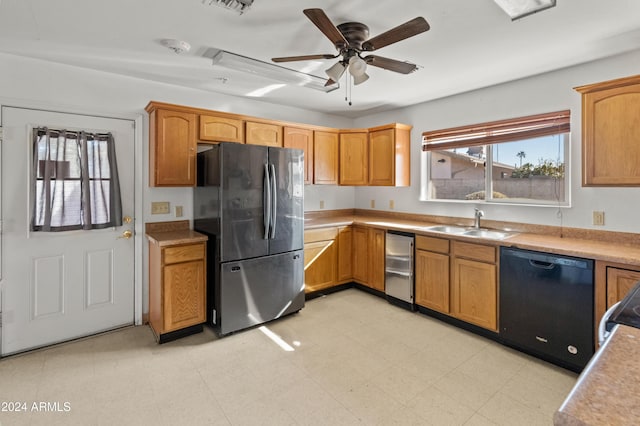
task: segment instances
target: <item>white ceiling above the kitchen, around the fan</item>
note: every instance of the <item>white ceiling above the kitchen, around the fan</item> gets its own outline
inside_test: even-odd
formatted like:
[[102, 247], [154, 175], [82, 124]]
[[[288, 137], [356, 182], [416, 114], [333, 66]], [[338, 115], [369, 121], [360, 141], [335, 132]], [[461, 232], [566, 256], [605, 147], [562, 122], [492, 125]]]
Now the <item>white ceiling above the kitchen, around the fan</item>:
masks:
[[[371, 78], [352, 89], [353, 105], [344, 84], [331, 93], [287, 86], [262, 97], [358, 117], [640, 49], [640, 1], [557, 3], [512, 22], [493, 0], [255, 0], [244, 15], [202, 0], [0, 0], [0, 51], [246, 96], [277, 82], [213, 67], [207, 49], [262, 61], [336, 53], [306, 8], [322, 8], [336, 25], [365, 23], [371, 36], [423, 16], [429, 31], [375, 52], [421, 68], [402, 75], [369, 67]], [[187, 41], [191, 51], [175, 54], [164, 38]], [[282, 65], [324, 77], [333, 63]]]

